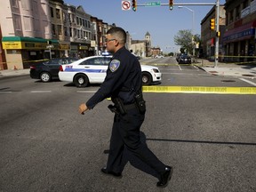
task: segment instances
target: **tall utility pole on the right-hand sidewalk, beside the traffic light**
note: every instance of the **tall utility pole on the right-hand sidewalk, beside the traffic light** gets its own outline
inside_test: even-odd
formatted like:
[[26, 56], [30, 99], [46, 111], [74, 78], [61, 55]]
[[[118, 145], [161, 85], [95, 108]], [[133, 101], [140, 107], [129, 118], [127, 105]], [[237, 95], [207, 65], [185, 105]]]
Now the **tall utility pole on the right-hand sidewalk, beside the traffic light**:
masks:
[[219, 32], [220, 32], [220, 0], [216, 0], [216, 33], [215, 33], [215, 61], [214, 68], [217, 68], [219, 62]]

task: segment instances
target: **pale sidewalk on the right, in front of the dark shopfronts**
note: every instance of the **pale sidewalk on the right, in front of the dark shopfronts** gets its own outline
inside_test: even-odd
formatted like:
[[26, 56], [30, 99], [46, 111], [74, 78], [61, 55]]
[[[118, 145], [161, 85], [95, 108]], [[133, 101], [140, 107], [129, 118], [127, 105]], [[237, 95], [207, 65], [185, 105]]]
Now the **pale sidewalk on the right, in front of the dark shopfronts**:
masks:
[[209, 74], [214, 76], [233, 76], [244, 78], [256, 78], [256, 64], [254, 65], [238, 65], [234, 63], [219, 62], [217, 67], [214, 68], [214, 62], [209, 60], [197, 60], [196, 67], [203, 69]]

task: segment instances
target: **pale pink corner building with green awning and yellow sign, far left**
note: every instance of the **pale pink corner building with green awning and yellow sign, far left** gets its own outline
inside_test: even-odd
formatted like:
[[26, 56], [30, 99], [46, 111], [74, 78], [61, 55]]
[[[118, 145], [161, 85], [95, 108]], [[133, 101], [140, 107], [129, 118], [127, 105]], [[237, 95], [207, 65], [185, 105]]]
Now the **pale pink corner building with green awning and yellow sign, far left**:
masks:
[[43, 59], [52, 38], [49, 2], [6, 0], [0, 12], [7, 68], [29, 68], [28, 60]]

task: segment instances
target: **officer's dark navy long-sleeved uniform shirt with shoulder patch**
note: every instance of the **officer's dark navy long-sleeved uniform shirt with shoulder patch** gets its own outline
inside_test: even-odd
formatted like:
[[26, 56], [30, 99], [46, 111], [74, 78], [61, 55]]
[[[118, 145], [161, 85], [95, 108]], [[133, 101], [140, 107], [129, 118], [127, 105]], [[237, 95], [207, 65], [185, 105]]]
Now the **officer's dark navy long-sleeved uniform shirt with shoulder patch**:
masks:
[[[119, 97], [124, 104], [134, 101], [134, 94], [141, 90], [141, 68], [137, 58], [125, 47], [113, 55], [108, 64], [107, 76], [98, 92], [86, 102], [89, 109], [108, 97]], [[125, 90], [125, 91], [124, 91]]]

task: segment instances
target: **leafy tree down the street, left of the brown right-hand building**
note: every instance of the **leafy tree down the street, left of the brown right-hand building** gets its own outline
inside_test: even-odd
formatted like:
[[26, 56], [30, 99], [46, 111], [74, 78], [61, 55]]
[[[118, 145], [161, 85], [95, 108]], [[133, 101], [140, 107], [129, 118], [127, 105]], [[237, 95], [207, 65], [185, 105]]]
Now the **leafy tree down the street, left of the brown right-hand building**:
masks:
[[180, 52], [186, 52], [192, 54], [193, 53], [193, 46], [197, 42], [201, 42], [200, 36], [196, 34], [194, 36], [194, 41], [192, 41], [193, 34], [191, 30], [180, 30], [178, 35], [174, 36], [174, 43], [176, 45], [180, 45]]

